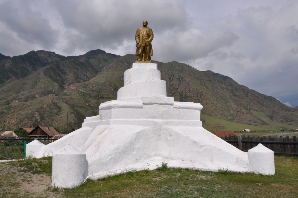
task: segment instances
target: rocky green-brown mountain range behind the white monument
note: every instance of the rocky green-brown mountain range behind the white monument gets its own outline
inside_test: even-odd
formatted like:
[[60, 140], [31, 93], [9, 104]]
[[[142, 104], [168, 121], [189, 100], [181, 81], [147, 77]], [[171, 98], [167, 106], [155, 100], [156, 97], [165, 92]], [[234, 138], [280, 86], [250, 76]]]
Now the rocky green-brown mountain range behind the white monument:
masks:
[[[9, 68], [1, 73], [5, 78], [0, 82], [0, 129], [37, 125], [66, 129], [67, 115], [69, 128], [80, 127], [86, 116], [98, 115], [100, 103], [117, 99], [124, 71], [135, 60], [132, 54], [117, 56], [97, 49], [69, 57], [40, 50], [0, 61], [0, 66]], [[162, 80], [167, 81], [167, 96], [201, 103], [202, 117], [276, 129], [298, 125], [298, 108], [232, 78], [176, 61], [154, 62]], [[206, 127], [220, 130], [222, 126], [214, 123]]]

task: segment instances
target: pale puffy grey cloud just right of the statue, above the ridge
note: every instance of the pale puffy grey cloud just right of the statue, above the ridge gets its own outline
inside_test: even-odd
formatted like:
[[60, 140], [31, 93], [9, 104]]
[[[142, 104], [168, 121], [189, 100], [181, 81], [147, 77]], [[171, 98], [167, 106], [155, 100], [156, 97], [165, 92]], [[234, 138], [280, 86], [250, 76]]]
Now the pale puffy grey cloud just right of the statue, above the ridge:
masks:
[[[191, 61], [207, 56], [221, 47], [232, 45], [238, 36], [231, 31], [202, 32], [194, 29], [167, 31], [157, 39], [159, 61]], [[159, 56], [159, 55], [162, 55]], [[156, 60], [156, 57], [154, 57]]]

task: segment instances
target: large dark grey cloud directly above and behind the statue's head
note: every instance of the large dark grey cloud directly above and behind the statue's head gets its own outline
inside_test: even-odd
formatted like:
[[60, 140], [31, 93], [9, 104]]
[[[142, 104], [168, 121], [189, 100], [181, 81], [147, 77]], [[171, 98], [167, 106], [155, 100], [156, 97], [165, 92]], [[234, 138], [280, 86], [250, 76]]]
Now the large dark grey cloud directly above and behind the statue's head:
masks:
[[[155, 34], [172, 28], [184, 29], [187, 13], [179, 2], [91, 1], [86, 4], [83, 1], [49, 1], [67, 31], [78, 33], [68, 33], [72, 34], [72, 40], [67, 37], [66, 42], [75, 42], [70, 45], [83, 49], [116, 49], [125, 40], [134, 40], [135, 31], [142, 26], [143, 20], [148, 21]], [[68, 49], [74, 50], [73, 47]]]

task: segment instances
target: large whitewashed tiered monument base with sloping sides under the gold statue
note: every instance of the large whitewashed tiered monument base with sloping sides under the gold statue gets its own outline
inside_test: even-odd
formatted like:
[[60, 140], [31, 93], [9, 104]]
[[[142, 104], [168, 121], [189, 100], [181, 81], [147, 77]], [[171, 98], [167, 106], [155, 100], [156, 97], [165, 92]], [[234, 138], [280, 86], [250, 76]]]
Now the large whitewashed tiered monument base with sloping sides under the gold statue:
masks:
[[[134, 63], [124, 74], [125, 86], [119, 89], [117, 100], [102, 103], [98, 116], [86, 117], [82, 128], [53, 143], [33, 141], [26, 154], [55, 155], [71, 144], [86, 154], [89, 178], [152, 170], [162, 162], [170, 167], [274, 174], [273, 157], [270, 162], [255, 157], [263, 156], [257, 154], [258, 148], [249, 156], [205, 130], [200, 121], [201, 104], [166, 97], [165, 81], [160, 80], [155, 65]], [[263, 147], [259, 150], [264, 153]]]

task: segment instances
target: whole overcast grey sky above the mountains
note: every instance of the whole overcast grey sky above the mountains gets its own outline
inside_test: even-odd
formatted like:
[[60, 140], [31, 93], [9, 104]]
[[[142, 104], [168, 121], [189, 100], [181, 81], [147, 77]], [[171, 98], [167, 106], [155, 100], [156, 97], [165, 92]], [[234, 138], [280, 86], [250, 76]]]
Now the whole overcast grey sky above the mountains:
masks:
[[135, 53], [148, 21], [153, 60], [233, 78], [298, 106], [297, 0], [0, 0], [0, 53]]

